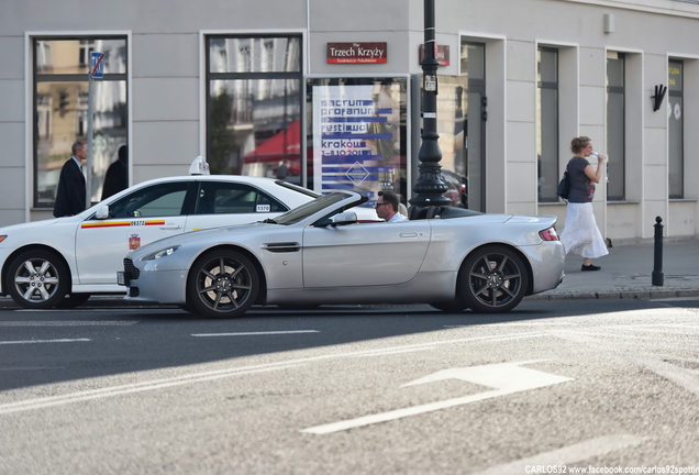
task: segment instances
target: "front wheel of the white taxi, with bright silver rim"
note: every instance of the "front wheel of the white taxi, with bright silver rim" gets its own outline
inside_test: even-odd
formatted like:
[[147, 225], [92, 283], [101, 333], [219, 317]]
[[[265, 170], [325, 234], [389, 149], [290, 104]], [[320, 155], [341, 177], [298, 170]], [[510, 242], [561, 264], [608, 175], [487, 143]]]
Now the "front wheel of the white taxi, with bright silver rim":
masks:
[[53, 251], [25, 251], [8, 267], [7, 284], [16, 305], [27, 309], [54, 308], [70, 289], [70, 270]]

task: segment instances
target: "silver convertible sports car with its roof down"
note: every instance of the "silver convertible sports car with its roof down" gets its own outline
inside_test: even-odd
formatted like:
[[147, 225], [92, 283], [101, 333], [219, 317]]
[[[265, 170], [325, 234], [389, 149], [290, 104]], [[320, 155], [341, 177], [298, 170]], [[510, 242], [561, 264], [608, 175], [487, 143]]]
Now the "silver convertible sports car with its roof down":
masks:
[[[254, 303], [430, 303], [506, 312], [563, 280], [556, 217], [430, 207], [406, 222], [359, 223], [340, 191], [274, 219], [167, 238], [124, 259], [126, 299], [234, 318]], [[350, 211], [348, 211], [350, 210]]]

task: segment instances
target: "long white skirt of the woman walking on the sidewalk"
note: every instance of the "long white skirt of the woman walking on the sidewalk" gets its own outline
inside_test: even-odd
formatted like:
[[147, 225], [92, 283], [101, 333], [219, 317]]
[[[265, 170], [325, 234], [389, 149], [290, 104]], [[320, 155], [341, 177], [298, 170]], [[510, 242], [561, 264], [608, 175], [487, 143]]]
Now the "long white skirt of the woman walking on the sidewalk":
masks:
[[597, 258], [609, 254], [602, 233], [597, 228], [592, 203], [568, 203], [566, 222], [561, 233], [566, 254], [581, 255], [584, 258]]

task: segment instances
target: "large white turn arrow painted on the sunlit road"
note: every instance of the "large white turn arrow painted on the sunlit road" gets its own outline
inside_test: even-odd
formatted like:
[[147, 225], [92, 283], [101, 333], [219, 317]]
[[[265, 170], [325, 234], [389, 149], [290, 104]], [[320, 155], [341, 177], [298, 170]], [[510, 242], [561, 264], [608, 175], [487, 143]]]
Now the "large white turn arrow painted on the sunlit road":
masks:
[[388, 412], [364, 416], [356, 419], [332, 422], [311, 428], [302, 429], [301, 432], [313, 434], [328, 434], [340, 432], [348, 429], [356, 429], [364, 426], [370, 426], [379, 422], [388, 422], [396, 419], [402, 419], [409, 416], [433, 412], [441, 409], [447, 409], [455, 406], [463, 406], [470, 402], [491, 399], [499, 396], [507, 396], [514, 393], [521, 393], [530, 389], [537, 389], [552, 386], [559, 383], [572, 382], [572, 378], [558, 376], [551, 373], [544, 373], [537, 369], [525, 368], [520, 365], [536, 363], [536, 361], [501, 363], [482, 366], [470, 366], [465, 368], [452, 368], [437, 372], [433, 375], [417, 379], [403, 385], [413, 386], [425, 383], [433, 383], [443, 379], [463, 379], [480, 386], [495, 387], [497, 389], [475, 395], [464, 396], [461, 398], [447, 399], [443, 401], [430, 402], [410, 408], [397, 409]]

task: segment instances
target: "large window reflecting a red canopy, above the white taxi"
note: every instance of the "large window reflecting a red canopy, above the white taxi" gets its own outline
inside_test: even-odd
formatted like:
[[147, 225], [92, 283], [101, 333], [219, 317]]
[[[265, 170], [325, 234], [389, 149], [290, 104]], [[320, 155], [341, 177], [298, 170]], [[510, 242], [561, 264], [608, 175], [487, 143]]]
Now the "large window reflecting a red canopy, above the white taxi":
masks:
[[207, 45], [211, 173], [301, 184], [301, 36], [208, 36]]

